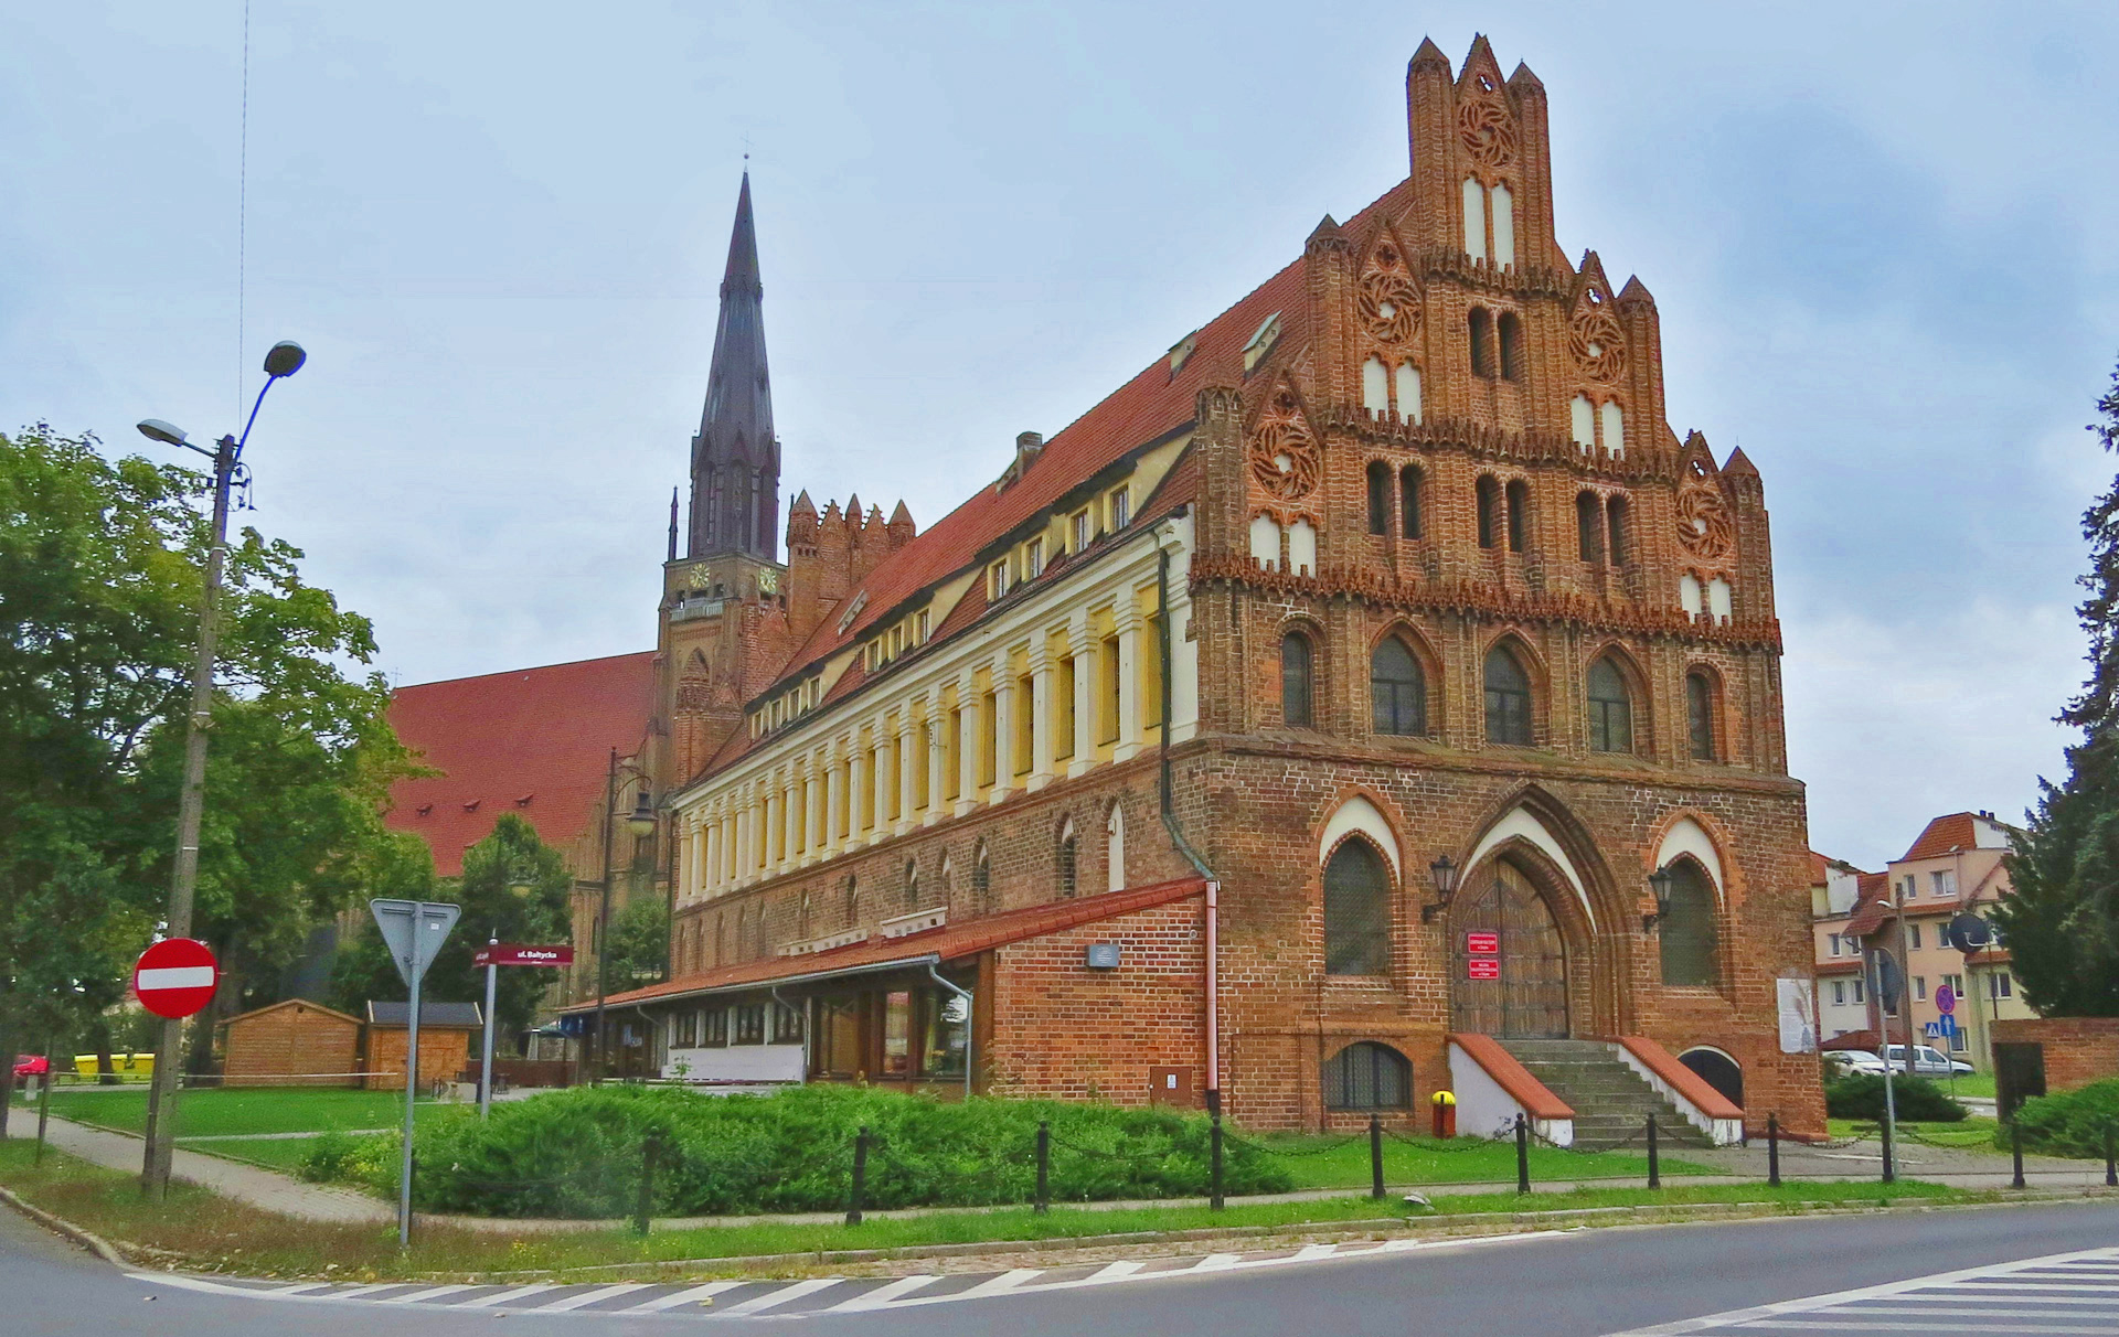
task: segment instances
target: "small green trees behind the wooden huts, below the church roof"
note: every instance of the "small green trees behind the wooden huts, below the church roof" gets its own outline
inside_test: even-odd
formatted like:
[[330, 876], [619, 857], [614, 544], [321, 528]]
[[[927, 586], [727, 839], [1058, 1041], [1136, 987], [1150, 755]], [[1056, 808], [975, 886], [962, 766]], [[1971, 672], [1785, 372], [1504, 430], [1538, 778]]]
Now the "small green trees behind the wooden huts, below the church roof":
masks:
[[[464, 907], [441, 956], [420, 983], [420, 996], [434, 1002], [483, 1002], [485, 970], [470, 964], [473, 951], [485, 941], [564, 943], [568, 941], [568, 892], [574, 886], [566, 860], [538, 839], [530, 822], [513, 812], [500, 814], [492, 833], [464, 852], [464, 875], [434, 881], [434, 864], [426, 845], [400, 869], [403, 881], [390, 896], [411, 901], [453, 901]], [[424, 884], [420, 881], [424, 864]], [[517, 886], [526, 890], [515, 892]], [[536, 1013], [538, 996], [553, 983], [551, 970], [534, 966], [500, 970], [494, 1013], [500, 1032], [526, 1030]], [[333, 1006], [360, 1015], [371, 998], [405, 998], [398, 977], [375, 924], [339, 951], [331, 973]]]

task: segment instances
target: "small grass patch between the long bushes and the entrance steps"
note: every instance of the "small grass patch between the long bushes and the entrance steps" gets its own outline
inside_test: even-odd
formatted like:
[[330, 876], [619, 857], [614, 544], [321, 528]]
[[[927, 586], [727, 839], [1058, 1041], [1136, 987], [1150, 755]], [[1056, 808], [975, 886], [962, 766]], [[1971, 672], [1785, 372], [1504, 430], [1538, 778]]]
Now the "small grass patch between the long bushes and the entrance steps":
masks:
[[[1280, 1153], [1280, 1163], [1295, 1174], [1297, 1189], [1367, 1189], [1369, 1140], [1356, 1138], [1257, 1138], [1261, 1146]], [[1716, 1174], [1674, 1157], [1659, 1157], [1663, 1174]], [[1530, 1180], [1646, 1180], [1649, 1157], [1638, 1151], [1560, 1151], [1530, 1148]], [[1384, 1182], [1390, 1184], [1479, 1184], [1515, 1180], [1515, 1142], [1483, 1138], [1449, 1138], [1403, 1142], [1384, 1138]]]

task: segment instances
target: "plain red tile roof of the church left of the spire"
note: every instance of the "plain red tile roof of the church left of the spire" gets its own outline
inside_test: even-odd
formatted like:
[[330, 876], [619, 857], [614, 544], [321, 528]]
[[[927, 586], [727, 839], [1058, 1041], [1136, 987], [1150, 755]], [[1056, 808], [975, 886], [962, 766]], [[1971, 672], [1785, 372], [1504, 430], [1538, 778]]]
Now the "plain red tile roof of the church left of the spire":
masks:
[[426, 839], [443, 877], [504, 812], [572, 841], [604, 801], [610, 748], [640, 750], [653, 701], [653, 650], [400, 687], [390, 725], [441, 776], [390, 786], [384, 820]]

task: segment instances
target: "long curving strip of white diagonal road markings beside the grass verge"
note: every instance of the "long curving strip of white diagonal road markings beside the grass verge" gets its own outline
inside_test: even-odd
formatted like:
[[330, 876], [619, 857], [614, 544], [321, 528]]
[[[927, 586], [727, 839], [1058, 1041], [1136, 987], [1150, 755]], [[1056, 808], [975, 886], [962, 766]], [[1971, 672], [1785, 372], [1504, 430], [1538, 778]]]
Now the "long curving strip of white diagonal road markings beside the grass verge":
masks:
[[[483, 1309], [492, 1314], [568, 1314], [578, 1318], [672, 1316], [672, 1318], [786, 1318], [790, 1314], [860, 1314], [941, 1305], [956, 1301], [1036, 1295], [1076, 1286], [1110, 1286], [1185, 1276], [1252, 1271], [1322, 1263], [1333, 1259], [1367, 1259], [1379, 1254], [1415, 1254], [1441, 1248], [1471, 1248], [1519, 1240], [1560, 1240], [1553, 1231], [1513, 1235], [1479, 1235], [1464, 1240], [1360, 1240], [1343, 1244], [1303, 1244], [1290, 1248], [1240, 1254], [1201, 1254], [1180, 1259], [1125, 1259], [1119, 1263], [1081, 1263], [1070, 1267], [1009, 1267], [1004, 1271], [913, 1273], [898, 1278], [807, 1278], [790, 1280], [723, 1280], [723, 1282], [615, 1282], [615, 1284], [432, 1284], [432, 1282], [271, 1282], [203, 1278], [186, 1273], [127, 1273], [136, 1282], [176, 1286], [210, 1295], [244, 1295], [288, 1303], [354, 1303], [398, 1305], [411, 1309]], [[2119, 1329], [2115, 1329], [2119, 1331]]]

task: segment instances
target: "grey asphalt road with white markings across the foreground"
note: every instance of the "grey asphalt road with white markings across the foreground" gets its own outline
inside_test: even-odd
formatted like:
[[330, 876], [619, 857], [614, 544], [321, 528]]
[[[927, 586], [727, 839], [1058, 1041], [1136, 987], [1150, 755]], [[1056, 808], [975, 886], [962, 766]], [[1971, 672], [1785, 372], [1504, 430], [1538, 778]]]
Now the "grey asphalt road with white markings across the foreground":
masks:
[[[2017, 1276], [1943, 1278], [1996, 1263]], [[898, 1286], [818, 1278], [795, 1293], [748, 1282], [718, 1295], [644, 1303], [680, 1288], [568, 1286], [504, 1297], [496, 1288], [377, 1288], [367, 1297], [195, 1290], [133, 1278], [0, 1212], [0, 1314], [8, 1337], [114, 1337], [203, 1331], [216, 1337], [411, 1337], [509, 1331], [606, 1337], [706, 1322], [773, 1322], [820, 1337], [1043, 1337], [1250, 1333], [1426, 1337], [1600, 1337], [1606, 1333], [2113, 1333], [2119, 1337], [2119, 1206], [2066, 1204], [1903, 1216], [1814, 1216], [1721, 1225], [1596, 1229], [1509, 1242], [1399, 1248], [1269, 1265], [1187, 1267], [1089, 1280], [1098, 1269], [1002, 1273]], [[1004, 1278], [1004, 1280], [1002, 1280]], [[426, 1295], [417, 1295], [426, 1290]], [[441, 1293], [437, 1293], [441, 1290]], [[954, 1290], [956, 1295], [943, 1295]], [[485, 1301], [475, 1305], [473, 1301]], [[697, 1299], [714, 1299], [701, 1307]], [[765, 1305], [746, 1303], [767, 1299]], [[839, 1307], [867, 1299], [869, 1307]], [[1808, 1303], [1805, 1303], [1808, 1301]], [[631, 1309], [621, 1312], [621, 1309]], [[744, 1314], [748, 1309], [748, 1314]], [[2066, 1314], [2055, 1320], [2053, 1314]]]

